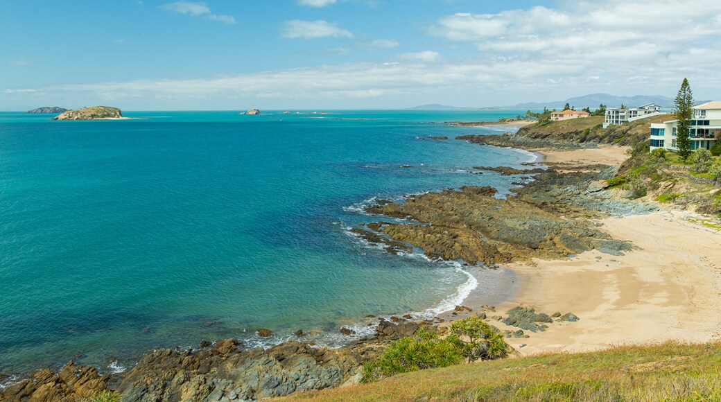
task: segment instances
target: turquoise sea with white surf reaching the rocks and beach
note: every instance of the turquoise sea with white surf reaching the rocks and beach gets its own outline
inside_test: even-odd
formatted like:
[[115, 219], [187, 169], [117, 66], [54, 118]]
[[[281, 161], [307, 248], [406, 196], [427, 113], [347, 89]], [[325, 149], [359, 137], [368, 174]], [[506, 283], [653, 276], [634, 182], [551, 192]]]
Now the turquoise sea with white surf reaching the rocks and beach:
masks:
[[508, 189], [515, 178], [468, 169], [528, 154], [417, 138], [491, 133], [429, 122], [518, 113], [0, 113], [0, 373], [257, 344], [260, 327], [277, 334], [265, 342], [304, 329], [337, 344], [368, 314], [452, 307], [476, 285], [469, 272], [493, 290], [494, 274], [387, 254], [347, 229], [371, 219], [358, 207], [372, 197]]

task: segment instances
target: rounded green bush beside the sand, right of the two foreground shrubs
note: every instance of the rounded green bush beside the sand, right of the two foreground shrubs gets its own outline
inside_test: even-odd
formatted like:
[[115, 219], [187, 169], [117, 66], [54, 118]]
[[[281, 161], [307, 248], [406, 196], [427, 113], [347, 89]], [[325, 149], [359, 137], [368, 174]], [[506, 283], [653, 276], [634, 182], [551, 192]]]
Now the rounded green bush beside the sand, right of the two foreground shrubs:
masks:
[[477, 316], [454, 321], [449, 329], [448, 339], [469, 363], [477, 359], [500, 359], [508, 356], [510, 352], [503, 334]]

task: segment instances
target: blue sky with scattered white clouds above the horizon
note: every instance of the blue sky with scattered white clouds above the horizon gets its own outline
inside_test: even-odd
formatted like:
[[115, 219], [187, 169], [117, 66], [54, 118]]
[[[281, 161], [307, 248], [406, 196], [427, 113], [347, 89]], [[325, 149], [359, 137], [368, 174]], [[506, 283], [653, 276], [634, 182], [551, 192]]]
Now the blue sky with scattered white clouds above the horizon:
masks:
[[0, 110], [721, 99], [719, 0], [0, 0]]

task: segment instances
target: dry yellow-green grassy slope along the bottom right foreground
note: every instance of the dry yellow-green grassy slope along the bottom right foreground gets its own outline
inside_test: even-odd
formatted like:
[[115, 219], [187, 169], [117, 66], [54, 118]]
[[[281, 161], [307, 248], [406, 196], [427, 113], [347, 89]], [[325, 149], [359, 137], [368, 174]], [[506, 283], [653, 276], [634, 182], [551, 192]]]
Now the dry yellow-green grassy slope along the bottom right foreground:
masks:
[[396, 375], [318, 401], [721, 401], [721, 342], [614, 347]]

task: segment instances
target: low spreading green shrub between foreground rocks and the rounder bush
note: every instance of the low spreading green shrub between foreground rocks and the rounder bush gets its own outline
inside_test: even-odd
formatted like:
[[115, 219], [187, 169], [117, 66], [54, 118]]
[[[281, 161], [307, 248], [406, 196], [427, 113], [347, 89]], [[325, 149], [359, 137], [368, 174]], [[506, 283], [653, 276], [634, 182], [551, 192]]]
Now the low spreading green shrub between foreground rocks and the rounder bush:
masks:
[[461, 350], [451, 339], [419, 329], [415, 336], [392, 341], [381, 357], [366, 362], [361, 382], [370, 383], [401, 372], [457, 365], [462, 358]]

